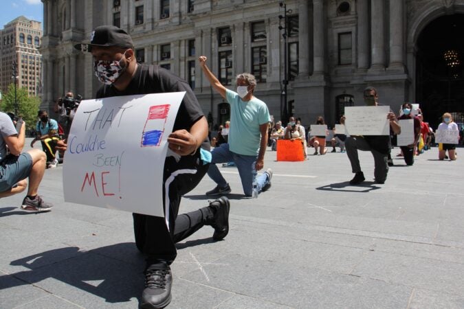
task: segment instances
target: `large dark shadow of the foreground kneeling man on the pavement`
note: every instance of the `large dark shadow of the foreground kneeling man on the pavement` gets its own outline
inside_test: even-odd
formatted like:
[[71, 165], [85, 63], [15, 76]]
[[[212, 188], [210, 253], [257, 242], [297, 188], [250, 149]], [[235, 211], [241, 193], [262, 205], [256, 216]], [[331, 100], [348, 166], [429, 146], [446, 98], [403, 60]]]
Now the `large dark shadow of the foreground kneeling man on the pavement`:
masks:
[[[120, 303], [131, 301], [132, 298], [140, 301], [144, 288], [144, 257], [133, 242], [90, 251], [65, 247], [30, 255], [10, 264], [30, 268], [30, 271], [0, 276], [1, 289], [34, 284], [50, 293], [56, 293], [58, 291], [49, 287], [49, 279], [56, 279], [102, 297], [108, 303]], [[61, 289], [59, 292], [63, 294], [63, 291], [76, 293], [72, 288]]]

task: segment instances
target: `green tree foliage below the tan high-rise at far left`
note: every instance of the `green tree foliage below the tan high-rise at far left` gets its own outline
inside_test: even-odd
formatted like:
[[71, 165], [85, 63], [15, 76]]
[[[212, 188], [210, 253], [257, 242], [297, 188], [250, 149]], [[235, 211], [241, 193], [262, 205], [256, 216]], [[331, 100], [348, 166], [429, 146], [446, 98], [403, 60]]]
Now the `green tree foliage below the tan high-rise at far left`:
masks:
[[[14, 113], [14, 84], [8, 86], [8, 91], [3, 94], [1, 101], [1, 111]], [[18, 115], [22, 117], [26, 128], [34, 128], [37, 122], [38, 107], [41, 104], [41, 99], [34, 96], [29, 96], [27, 89], [16, 88], [16, 100], [18, 102]]]

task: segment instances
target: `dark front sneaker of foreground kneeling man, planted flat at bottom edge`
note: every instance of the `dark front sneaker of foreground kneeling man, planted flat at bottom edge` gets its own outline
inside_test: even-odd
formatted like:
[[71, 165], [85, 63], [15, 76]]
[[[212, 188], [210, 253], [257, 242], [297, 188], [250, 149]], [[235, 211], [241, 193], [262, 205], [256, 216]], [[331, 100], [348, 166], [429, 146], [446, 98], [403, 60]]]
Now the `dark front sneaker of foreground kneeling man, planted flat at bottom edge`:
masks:
[[170, 303], [173, 275], [168, 264], [155, 264], [145, 270], [145, 288], [140, 308], [164, 308]]

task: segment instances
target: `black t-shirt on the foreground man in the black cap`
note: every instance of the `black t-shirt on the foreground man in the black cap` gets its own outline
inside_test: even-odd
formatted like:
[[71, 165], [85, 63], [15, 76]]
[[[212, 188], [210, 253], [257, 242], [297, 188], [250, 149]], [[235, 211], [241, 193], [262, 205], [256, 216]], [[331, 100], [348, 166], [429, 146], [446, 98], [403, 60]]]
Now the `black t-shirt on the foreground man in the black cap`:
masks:
[[[186, 81], [161, 67], [138, 64], [131, 82], [124, 91], [119, 91], [113, 84], [105, 84], [98, 89], [96, 98], [179, 91], [186, 91], [186, 94], [175, 117], [173, 131], [181, 129], [190, 131], [193, 124], [204, 116], [197, 97]], [[201, 148], [210, 150], [208, 137], [201, 144]]]

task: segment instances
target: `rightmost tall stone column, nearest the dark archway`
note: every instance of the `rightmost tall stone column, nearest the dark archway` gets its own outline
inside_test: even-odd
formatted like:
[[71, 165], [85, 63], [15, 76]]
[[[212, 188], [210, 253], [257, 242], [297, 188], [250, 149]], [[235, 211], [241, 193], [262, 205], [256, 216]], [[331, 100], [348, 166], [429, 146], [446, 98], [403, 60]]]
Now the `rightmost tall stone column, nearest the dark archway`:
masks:
[[390, 0], [390, 63], [388, 69], [404, 70], [404, 1]]

